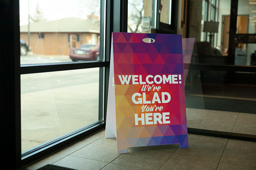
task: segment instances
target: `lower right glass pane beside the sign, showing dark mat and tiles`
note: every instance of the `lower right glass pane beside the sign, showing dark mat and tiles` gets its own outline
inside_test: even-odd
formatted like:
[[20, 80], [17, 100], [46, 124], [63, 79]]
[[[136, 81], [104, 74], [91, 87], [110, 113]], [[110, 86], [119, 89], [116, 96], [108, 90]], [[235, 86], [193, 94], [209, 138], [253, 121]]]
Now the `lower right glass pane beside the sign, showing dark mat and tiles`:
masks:
[[188, 128], [256, 135], [256, 74], [189, 70]]

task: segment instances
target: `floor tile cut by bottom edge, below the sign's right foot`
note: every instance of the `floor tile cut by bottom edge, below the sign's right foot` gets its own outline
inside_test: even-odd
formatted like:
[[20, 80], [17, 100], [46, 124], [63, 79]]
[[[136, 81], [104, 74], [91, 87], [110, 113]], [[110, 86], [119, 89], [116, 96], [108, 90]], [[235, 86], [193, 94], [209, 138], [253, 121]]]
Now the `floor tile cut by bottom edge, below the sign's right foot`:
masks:
[[214, 162], [212, 160], [202, 160], [188, 157], [172, 156], [166, 164], [161, 168], [161, 170], [170, 169], [216, 169], [219, 162]]

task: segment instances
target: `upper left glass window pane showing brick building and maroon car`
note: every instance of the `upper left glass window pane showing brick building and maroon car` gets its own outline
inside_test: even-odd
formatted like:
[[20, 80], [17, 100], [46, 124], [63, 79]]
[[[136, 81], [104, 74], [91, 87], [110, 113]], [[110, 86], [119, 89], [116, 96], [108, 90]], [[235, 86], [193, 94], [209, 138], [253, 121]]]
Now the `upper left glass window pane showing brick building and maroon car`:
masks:
[[100, 0], [20, 0], [21, 64], [99, 60], [99, 43]]

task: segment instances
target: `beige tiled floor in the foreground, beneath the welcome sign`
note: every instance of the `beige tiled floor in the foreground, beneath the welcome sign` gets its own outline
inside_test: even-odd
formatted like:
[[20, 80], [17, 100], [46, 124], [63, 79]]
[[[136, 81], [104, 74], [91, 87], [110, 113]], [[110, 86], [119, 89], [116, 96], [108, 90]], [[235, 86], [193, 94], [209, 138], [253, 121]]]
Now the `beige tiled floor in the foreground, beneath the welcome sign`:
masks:
[[81, 170], [256, 169], [255, 142], [189, 135], [189, 148], [179, 148], [179, 144], [146, 146], [117, 154], [116, 139], [105, 139], [104, 134], [101, 130], [21, 169], [34, 170], [46, 164]]

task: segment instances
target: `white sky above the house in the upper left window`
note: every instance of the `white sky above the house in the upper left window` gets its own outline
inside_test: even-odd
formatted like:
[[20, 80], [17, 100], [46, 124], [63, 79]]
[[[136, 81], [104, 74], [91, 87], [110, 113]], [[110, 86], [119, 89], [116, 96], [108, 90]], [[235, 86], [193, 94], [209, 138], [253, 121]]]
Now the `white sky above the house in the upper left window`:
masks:
[[92, 12], [100, 16], [100, 0], [20, 0], [21, 26], [28, 25], [28, 1], [30, 16], [35, 14], [36, 4], [39, 4], [47, 20], [68, 17], [87, 19]]

